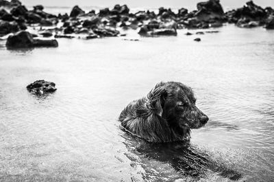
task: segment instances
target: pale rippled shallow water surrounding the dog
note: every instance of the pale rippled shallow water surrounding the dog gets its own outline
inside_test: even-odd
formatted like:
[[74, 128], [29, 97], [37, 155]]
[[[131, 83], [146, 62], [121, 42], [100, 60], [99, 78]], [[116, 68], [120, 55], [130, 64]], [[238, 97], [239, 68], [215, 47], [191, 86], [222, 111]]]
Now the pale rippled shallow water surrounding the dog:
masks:
[[[229, 181], [204, 158], [240, 181], [274, 181], [274, 31], [218, 30], [18, 51], [0, 41], [0, 181]], [[28, 93], [39, 79], [58, 90]], [[148, 144], [119, 128], [123, 108], [161, 80], [192, 87], [210, 117], [190, 144]]]

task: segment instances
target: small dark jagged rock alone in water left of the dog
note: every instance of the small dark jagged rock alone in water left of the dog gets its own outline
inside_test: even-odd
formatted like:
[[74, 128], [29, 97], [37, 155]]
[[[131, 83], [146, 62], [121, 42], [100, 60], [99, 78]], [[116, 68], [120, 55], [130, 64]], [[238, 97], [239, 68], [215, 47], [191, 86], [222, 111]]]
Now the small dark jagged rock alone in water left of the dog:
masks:
[[45, 80], [36, 80], [32, 84], [27, 85], [27, 90], [36, 94], [53, 93], [57, 89], [55, 83], [47, 82]]

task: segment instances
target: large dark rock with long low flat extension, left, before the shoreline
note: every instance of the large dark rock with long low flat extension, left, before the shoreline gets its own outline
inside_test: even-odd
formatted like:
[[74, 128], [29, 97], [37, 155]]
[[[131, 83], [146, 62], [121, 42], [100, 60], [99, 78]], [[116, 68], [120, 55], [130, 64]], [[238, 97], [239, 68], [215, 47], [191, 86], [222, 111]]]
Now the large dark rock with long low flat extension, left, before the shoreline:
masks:
[[11, 49], [28, 47], [58, 47], [58, 42], [56, 40], [34, 39], [32, 34], [29, 34], [29, 32], [20, 31], [13, 36], [9, 36], [5, 45]]

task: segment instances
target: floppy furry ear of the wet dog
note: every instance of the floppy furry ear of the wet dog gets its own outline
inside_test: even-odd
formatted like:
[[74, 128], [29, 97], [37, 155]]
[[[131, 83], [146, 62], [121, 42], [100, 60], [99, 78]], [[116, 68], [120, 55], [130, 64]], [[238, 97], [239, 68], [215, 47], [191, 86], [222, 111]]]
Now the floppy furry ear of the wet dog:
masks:
[[162, 117], [166, 95], [167, 93], [163, 82], [156, 84], [155, 88], [147, 94], [147, 98], [149, 99], [149, 109], [160, 117]]

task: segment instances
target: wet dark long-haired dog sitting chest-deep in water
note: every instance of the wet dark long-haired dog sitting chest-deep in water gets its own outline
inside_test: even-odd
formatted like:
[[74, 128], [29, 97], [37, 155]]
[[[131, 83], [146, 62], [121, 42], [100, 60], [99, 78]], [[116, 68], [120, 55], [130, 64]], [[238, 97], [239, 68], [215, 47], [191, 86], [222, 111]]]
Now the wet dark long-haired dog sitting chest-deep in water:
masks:
[[160, 82], [147, 97], [129, 103], [119, 121], [129, 133], [150, 142], [184, 141], [190, 138], [190, 129], [208, 122], [195, 102], [190, 87], [180, 82]]

